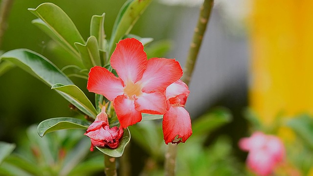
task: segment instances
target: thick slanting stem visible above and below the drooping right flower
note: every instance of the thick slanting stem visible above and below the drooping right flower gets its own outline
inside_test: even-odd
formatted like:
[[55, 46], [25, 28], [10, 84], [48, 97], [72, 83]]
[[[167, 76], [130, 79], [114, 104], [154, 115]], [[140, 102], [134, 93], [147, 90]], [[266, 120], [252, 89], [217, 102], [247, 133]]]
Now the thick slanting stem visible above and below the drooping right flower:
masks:
[[[187, 85], [189, 84], [194, 67], [197, 61], [198, 53], [202, 43], [203, 35], [210, 18], [214, 0], [204, 0], [200, 8], [198, 24], [194, 30], [193, 40], [190, 44], [188, 57], [184, 66], [184, 74], [181, 78]], [[165, 176], [175, 176], [175, 164], [177, 155], [177, 145], [169, 144], [165, 153]]]

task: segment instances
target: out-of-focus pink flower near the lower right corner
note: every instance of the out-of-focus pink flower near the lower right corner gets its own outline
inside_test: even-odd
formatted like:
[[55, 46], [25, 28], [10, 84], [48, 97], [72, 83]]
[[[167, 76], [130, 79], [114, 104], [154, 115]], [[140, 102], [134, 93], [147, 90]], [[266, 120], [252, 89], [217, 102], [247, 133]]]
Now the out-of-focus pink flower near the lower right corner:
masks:
[[263, 132], [254, 132], [251, 137], [242, 138], [239, 147], [249, 152], [247, 166], [259, 176], [272, 174], [285, 157], [283, 142], [277, 136]]

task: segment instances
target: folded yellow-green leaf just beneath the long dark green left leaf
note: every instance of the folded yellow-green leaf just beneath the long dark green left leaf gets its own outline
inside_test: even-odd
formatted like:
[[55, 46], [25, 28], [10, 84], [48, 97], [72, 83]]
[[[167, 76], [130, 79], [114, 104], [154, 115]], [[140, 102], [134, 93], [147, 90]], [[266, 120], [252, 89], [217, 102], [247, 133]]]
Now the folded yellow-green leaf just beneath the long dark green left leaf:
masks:
[[67, 94], [72, 100], [71, 103], [84, 112], [85, 114], [89, 115], [90, 117], [96, 118], [97, 110], [93, 107], [92, 103], [89, 101], [85, 93], [75, 85], [62, 85], [62, 84], [55, 84], [52, 86], [51, 89], [56, 89]]

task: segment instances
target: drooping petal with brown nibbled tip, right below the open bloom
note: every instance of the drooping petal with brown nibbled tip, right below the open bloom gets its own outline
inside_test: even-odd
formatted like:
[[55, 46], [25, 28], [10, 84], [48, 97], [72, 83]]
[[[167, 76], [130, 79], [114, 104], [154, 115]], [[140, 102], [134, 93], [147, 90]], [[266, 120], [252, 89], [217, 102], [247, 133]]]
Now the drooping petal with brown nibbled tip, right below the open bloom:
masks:
[[[185, 142], [192, 134], [191, 120], [183, 107], [170, 107], [163, 116], [162, 123], [165, 144]], [[179, 141], [175, 141], [181, 138]]]

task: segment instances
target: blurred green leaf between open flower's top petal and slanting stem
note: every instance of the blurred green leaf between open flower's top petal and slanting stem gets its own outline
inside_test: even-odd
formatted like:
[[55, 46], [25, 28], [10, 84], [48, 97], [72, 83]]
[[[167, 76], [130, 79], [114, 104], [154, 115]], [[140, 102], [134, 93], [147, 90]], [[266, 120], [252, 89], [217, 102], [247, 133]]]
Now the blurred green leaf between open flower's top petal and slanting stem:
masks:
[[169, 40], [157, 41], [145, 47], [148, 59], [161, 58], [172, 48], [172, 42]]

